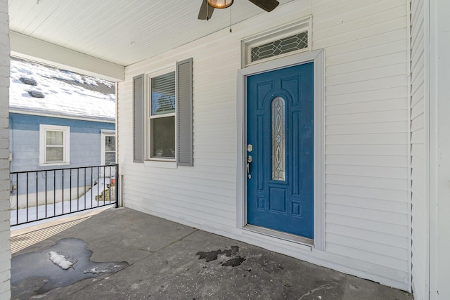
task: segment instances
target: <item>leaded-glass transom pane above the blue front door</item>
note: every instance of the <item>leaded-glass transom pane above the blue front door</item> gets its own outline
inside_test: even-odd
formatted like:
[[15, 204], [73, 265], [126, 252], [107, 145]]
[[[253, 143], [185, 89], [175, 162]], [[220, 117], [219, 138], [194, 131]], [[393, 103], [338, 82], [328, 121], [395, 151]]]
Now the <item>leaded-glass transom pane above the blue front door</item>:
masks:
[[308, 48], [308, 32], [300, 32], [290, 37], [271, 41], [270, 43], [252, 47], [251, 61], [262, 60], [264, 58], [271, 58], [279, 56], [291, 51]]

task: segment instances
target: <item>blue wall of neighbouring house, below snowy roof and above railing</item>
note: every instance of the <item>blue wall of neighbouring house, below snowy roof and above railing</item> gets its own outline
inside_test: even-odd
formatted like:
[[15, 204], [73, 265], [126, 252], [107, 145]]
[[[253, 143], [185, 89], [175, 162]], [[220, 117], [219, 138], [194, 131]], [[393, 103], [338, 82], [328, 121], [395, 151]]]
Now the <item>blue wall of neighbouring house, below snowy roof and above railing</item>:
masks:
[[[12, 172], [97, 166], [101, 164], [101, 129], [115, 129], [114, 123], [15, 113], [10, 113], [9, 123]], [[70, 126], [70, 164], [39, 166], [39, 124]]]

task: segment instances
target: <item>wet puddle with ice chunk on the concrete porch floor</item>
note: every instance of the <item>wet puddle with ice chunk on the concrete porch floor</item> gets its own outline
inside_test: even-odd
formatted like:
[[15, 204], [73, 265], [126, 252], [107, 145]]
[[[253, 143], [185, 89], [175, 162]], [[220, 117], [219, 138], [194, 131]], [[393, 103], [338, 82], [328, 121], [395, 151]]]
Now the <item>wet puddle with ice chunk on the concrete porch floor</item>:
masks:
[[[13, 296], [30, 289], [34, 294], [44, 294], [57, 287], [66, 287], [87, 278], [106, 273], [115, 273], [128, 266], [127, 261], [96, 263], [91, 261], [92, 251], [77, 238], [59, 240], [53, 246], [40, 252], [13, 256], [11, 259], [11, 287]], [[62, 260], [72, 263], [66, 270], [50, 259], [58, 254]], [[67, 264], [66, 264], [67, 265]]]

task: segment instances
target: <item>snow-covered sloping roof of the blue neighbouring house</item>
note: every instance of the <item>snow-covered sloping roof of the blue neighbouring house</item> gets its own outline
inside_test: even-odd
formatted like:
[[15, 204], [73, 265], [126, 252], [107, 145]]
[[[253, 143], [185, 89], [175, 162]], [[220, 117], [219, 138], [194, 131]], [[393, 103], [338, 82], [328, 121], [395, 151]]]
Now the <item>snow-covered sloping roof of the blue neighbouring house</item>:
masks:
[[[36, 85], [25, 84], [27, 79], [33, 79]], [[18, 58], [11, 58], [10, 82], [10, 111], [75, 119], [115, 120], [113, 82]], [[39, 96], [34, 92], [40, 92], [44, 98], [31, 96]]]

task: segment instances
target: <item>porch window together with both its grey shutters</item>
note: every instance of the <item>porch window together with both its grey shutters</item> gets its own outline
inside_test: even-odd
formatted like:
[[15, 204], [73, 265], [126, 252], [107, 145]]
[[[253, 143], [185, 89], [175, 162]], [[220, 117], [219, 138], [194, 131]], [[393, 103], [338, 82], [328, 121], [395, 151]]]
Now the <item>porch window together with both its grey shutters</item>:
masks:
[[192, 58], [176, 62], [175, 71], [133, 78], [134, 162], [160, 160], [193, 166], [192, 84]]

